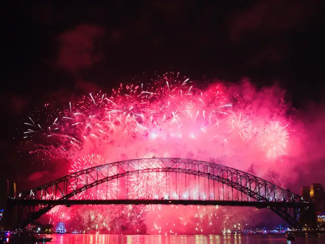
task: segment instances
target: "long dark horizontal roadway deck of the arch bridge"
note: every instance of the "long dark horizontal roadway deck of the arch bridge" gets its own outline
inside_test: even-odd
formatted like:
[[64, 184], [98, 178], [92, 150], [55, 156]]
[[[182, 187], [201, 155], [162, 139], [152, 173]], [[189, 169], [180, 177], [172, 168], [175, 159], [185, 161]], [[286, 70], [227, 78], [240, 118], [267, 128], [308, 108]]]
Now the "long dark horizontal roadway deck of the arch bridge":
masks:
[[38, 199], [8, 199], [12, 205], [210, 205], [210, 206], [242, 206], [256, 208], [284, 208], [284, 207], [308, 207], [309, 202], [258, 202], [258, 201], [224, 201], [224, 200], [168, 200], [168, 199], [111, 199], [111, 200], [38, 200]]

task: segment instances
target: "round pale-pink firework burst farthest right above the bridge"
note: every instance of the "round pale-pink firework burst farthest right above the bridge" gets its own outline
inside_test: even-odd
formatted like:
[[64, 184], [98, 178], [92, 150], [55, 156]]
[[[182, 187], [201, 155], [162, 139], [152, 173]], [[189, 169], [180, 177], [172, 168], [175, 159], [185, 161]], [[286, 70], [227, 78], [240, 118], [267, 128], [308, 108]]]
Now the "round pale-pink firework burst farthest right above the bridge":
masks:
[[266, 151], [267, 157], [276, 158], [285, 155], [285, 148], [288, 142], [289, 133], [286, 130], [288, 125], [282, 127], [278, 122], [266, 126], [259, 134], [259, 146]]

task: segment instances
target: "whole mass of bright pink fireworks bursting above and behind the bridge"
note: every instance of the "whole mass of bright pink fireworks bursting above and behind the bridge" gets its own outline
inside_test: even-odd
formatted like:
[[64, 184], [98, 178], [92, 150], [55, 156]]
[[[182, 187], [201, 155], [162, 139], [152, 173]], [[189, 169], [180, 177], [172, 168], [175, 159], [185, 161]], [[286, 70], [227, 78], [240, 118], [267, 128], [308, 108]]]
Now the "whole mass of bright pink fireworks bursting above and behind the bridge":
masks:
[[[252, 91], [258, 97], [258, 92], [254, 89]], [[37, 153], [35, 157], [46, 154], [49, 162], [55, 158], [68, 159], [71, 163], [69, 173], [106, 164], [107, 160], [117, 162], [141, 158], [143, 155], [142, 158], [152, 160], [140, 162], [135, 170], [161, 167], [159, 161], [155, 160], [157, 155], [205, 161], [225, 159], [229, 166], [243, 170], [252, 163], [267, 167], [289, 154], [287, 144], [293, 130], [289, 130], [289, 126], [280, 126], [278, 122], [270, 122], [275, 120], [284, 121], [283, 125], [288, 124], [285, 122], [288, 119], [277, 113], [278, 102], [273, 107], [266, 107], [260, 100], [254, 100], [254, 96], [245, 96], [245, 92], [236, 85], [228, 86], [219, 81], [199, 88], [187, 77], [177, 74], [175, 78], [175, 74], [164, 74], [149, 84], [120, 84], [110, 94], [88, 93], [79, 102], [69, 102], [66, 109], [54, 109], [46, 104], [43, 109], [26, 117], [23, 137], [26, 143], [37, 145], [31, 150]], [[273, 100], [281, 99], [276, 97]], [[147, 154], [148, 151], [156, 153]], [[191, 189], [186, 192], [164, 192], [163, 186], [169, 180], [164, 173], [159, 172], [130, 174], [128, 197], [213, 197], [200, 195], [197, 186], [190, 186]], [[79, 193], [76, 198], [115, 199], [116, 192], [126, 188], [125, 181], [121, 180], [119, 184], [114, 181], [109, 182], [108, 187], [102, 184]], [[147, 224], [154, 223], [152, 229], [164, 234], [167, 227], [163, 228], [164, 218], [160, 215], [164, 209], [166, 212], [171, 209], [167, 206], [157, 208], [159, 211], [155, 211], [152, 206], [141, 206], [137, 210], [125, 208], [123, 211], [134, 211], [132, 216], [139, 221], [150, 218]], [[56, 212], [62, 212], [58, 209], [55, 207], [51, 210], [52, 219], [62, 219], [56, 216]], [[98, 214], [99, 207], [91, 209], [88, 217], [90, 215], [98, 220], [98, 224], [105, 219], [103, 214]], [[105, 212], [110, 208], [105, 206], [100, 209]], [[195, 233], [203, 233], [209, 223], [216, 221], [208, 217], [210, 222], [203, 222], [204, 216], [215, 214], [213, 207], [204, 209], [198, 209], [193, 219], [185, 218], [184, 210], [183, 215], [179, 214], [177, 221], [174, 220], [174, 224], [190, 226], [188, 228]], [[84, 218], [88, 217], [85, 215]], [[107, 227], [108, 220], [104, 222], [100, 226]], [[191, 226], [192, 222], [198, 225]], [[175, 228], [166, 229], [165, 232], [176, 233]]]

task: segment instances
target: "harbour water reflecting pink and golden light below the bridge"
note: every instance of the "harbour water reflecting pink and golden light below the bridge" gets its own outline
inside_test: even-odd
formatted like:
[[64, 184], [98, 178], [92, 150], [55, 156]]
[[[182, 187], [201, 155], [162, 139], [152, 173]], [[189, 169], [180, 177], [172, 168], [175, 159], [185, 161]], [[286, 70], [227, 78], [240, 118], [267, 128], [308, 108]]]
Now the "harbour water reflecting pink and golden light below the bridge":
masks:
[[[273, 244], [291, 243], [284, 235], [95, 235], [53, 234], [50, 244]], [[32, 243], [20, 238], [9, 239], [9, 243]], [[299, 236], [293, 244], [323, 244], [325, 235]]]

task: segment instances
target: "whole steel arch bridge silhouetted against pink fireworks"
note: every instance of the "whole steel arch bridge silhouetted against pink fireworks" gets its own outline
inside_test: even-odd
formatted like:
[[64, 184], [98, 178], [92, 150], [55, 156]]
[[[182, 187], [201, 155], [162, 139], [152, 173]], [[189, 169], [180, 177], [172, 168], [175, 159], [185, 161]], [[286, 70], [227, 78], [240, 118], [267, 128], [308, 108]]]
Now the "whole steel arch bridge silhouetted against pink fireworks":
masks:
[[12, 227], [24, 228], [56, 205], [77, 204], [251, 206], [269, 208], [295, 228], [316, 224], [313, 203], [290, 190], [224, 165], [178, 158], [126, 160], [74, 172], [9, 198], [7, 216], [15, 213]]

